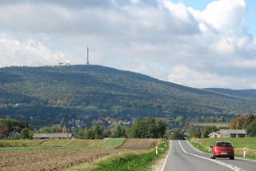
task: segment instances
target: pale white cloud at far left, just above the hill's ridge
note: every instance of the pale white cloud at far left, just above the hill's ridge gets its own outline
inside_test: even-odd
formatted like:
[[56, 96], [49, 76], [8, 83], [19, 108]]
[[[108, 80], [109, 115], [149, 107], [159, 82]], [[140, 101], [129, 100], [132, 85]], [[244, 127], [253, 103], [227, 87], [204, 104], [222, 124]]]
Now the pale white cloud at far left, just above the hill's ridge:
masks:
[[0, 34], [0, 66], [42, 66], [70, 62], [72, 58], [53, 52], [41, 42], [19, 42]]

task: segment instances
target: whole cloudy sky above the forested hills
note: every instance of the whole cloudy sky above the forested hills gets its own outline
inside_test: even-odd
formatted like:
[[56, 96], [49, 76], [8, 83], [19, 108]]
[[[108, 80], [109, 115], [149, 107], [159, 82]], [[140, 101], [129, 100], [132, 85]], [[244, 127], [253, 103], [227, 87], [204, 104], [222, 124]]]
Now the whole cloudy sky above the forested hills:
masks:
[[59, 62], [256, 89], [255, 0], [0, 0], [0, 67]]

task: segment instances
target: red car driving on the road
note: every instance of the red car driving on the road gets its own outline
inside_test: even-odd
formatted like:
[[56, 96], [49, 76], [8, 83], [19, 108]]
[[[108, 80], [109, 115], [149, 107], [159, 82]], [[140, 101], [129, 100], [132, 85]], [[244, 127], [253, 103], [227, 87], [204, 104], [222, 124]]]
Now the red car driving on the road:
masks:
[[212, 147], [211, 158], [215, 157], [230, 157], [230, 160], [234, 160], [234, 147], [230, 142], [217, 141]]

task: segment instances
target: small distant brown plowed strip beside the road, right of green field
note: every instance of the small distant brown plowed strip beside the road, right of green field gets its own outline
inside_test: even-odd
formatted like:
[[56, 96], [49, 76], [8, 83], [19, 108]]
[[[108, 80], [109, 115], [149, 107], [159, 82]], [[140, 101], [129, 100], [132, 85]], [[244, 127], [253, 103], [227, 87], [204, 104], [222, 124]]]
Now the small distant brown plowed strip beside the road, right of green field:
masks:
[[151, 149], [158, 144], [158, 139], [127, 139], [118, 149]]

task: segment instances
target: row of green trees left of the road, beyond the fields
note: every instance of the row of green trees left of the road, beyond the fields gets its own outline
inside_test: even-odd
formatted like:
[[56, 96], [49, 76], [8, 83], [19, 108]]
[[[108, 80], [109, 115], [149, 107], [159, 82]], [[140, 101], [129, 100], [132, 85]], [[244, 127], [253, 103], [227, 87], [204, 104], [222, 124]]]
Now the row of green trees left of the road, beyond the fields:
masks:
[[[8, 131], [4, 131], [8, 130]], [[11, 131], [16, 131], [20, 136], [14, 139], [32, 138], [33, 133], [60, 133], [63, 128], [58, 126], [44, 126], [42, 129], [32, 130], [25, 121], [14, 119], [0, 120], [0, 135], [2, 139], [9, 137]], [[134, 138], [163, 138], [166, 132], [166, 121], [161, 118], [146, 117], [135, 120], [130, 128], [115, 125], [113, 129], [100, 125], [92, 125], [74, 131], [74, 137], [82, 139], [102, 139], [103, 137], [134, 137]]]

